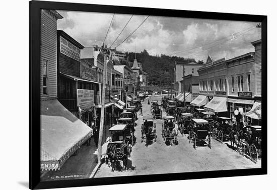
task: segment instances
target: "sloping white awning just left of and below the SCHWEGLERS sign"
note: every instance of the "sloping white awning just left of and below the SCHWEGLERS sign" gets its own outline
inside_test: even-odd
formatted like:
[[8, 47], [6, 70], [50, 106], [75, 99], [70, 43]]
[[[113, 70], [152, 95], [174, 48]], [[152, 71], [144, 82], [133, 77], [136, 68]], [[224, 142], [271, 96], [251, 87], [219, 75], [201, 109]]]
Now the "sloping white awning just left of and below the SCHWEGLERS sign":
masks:
[[206, 106], [204, 106], [204, 109], [211, 112], [227, 112], [227, 98], [214, 97], [206, 104]]

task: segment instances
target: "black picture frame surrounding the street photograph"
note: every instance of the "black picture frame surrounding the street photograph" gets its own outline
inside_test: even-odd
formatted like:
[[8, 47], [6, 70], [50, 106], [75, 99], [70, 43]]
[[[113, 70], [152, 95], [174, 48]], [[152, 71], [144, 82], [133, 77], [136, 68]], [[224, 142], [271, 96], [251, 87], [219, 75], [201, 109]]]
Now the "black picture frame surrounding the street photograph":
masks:
[[40, 181], [40, 72], [38, 72], [40, 70], [40, 64], [38, 64], [40, 62], [40, 9], [260, 22], [262, 24], [262, 115], [267, 118], [267, 16], [31, 1], [29, 2], [29, 188], [42, 189], [267, 174], [267, 120], [263, 119], [262, 138], [264, 140], [261, 168], [154, 174], [151, 177], [136, 175]]

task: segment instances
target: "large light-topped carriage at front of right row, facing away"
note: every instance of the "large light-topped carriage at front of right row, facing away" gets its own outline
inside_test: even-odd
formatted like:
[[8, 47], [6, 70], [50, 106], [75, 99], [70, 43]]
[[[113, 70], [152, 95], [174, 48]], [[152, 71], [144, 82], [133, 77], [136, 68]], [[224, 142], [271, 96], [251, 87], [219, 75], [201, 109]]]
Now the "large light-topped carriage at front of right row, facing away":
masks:
[[189, 143], [193, 143], [193, 148], [196, 149], [196, 143], [207, 144], [212, 148], [211, 132], [209, 129], [209, 122], [203, 119], [191, 119], [188, 126]]

